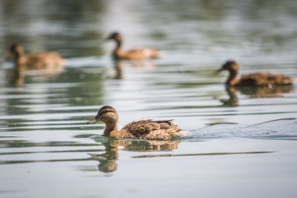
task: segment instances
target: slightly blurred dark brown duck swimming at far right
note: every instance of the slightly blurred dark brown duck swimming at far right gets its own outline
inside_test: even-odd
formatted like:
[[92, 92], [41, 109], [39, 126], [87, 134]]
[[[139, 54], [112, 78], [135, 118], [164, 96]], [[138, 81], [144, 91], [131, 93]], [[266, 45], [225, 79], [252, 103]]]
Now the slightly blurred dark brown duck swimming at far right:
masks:
[[252, 73], [237, 77], [239, 64], [234, 60], [228, 60], [222, 65], [222, 68], [217, 70], [221, 72], [223, 70], [229, 71], [229, 77], [226, 81], [227, 86], [268, 86], [272, 85], [291, 85], [293, 79], [283, 74], [271, 74], [271, 73]]

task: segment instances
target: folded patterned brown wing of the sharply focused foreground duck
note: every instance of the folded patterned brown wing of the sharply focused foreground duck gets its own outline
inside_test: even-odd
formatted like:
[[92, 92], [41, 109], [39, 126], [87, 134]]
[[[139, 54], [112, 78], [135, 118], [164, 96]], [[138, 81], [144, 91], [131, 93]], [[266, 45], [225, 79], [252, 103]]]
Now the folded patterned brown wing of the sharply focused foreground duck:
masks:
[[[130, 122], [127, 125], [125, 125], [121, 131], [129, 131], [131, 134], [133, 134], [135, 137], [141, 138], [149, 133], [161, 130], [163, 133], [165, 131], [168, 131], [172, 126], [176, 126], [171, 123], [172, 120], [140, 120], [140, 121], [134, 121]], [[160, 132], [161, 132], [160, 131]]]

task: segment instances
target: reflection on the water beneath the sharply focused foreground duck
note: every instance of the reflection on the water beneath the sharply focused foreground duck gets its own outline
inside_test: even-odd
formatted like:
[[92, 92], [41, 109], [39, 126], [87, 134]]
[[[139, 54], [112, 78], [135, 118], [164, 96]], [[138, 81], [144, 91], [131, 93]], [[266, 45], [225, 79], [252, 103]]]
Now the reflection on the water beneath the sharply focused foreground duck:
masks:
[[[105, 152], [101, 154], [89, 155], [92, 159], [98, 160], [98, 169], [104, 173], [110, 173], [117, 170], [116, 163], [119, 158], [118, 150], [134, 152], [151, 152], [151, 151], [169, 151], [178, 148], [177, 141], [141, 141], [141, 140], [114, 140], [109, 139], [103, 142]], [[119, 146], [123, 148], [118, 148]]]

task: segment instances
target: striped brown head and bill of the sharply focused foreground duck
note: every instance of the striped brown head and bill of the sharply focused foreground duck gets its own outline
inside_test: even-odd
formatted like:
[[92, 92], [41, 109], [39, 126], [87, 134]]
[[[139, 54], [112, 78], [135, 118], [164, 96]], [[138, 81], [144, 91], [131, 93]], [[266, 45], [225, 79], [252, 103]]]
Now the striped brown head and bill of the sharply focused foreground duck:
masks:
[[99, 109], [95, 118], [87, 122], [87, 124], [94, 124], [96, 122], [104, 122], [106, 126], [116, 125], [118, 121], [118, 114], [111, 106], [103, 106]]

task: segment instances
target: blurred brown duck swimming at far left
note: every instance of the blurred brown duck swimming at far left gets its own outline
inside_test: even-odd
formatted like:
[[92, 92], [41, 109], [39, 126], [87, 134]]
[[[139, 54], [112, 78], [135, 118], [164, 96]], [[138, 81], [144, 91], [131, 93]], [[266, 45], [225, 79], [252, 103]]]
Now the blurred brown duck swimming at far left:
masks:
[[20, 44], [13, 44], [9, 48], [9, 53], [14, 56], [16, 65], [22, 65], [26, 69], [62, 69], [66, 63], [59, 53], [35, 52], [25, 54], [24, 48]]

